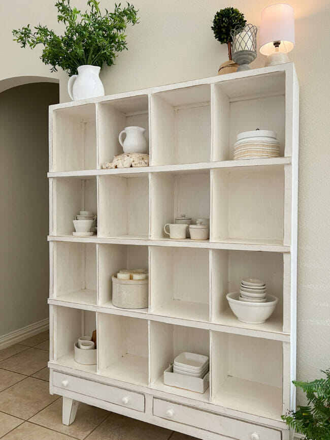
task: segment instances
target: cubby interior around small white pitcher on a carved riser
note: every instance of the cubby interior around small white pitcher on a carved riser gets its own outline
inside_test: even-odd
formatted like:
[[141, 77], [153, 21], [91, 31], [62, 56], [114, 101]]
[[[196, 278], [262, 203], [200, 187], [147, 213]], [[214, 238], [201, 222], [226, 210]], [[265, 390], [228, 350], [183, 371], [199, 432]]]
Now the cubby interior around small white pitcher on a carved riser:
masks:
[[125, 127], [143, 127], [149, 143], [148, 95], [104, 101], [98, 104], [98, 168], [105, 162], [112, 162], [115, 154], [122, 154], [118, 141], [119, 133]]

